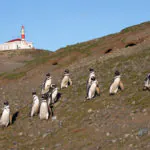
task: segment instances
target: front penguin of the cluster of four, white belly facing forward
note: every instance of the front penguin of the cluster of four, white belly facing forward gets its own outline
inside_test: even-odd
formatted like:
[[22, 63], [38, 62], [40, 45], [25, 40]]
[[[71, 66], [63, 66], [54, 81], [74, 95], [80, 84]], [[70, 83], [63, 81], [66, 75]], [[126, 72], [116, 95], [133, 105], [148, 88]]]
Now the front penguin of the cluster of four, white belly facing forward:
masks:
[[47, 103], [47, 97], [45, 95], [42, 95], [39, 117], [40, 119], [46, 120], [49, 118], [49, 108]]

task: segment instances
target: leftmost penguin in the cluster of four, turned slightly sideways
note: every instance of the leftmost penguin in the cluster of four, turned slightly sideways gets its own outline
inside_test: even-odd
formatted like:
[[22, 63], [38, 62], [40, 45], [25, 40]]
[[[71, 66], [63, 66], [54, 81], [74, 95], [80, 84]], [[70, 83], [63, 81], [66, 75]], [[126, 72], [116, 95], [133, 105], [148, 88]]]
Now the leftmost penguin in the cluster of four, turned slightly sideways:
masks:
[[40, 107], [40, 101], [38, 96], [36, 95], [36, 92], [32, 92], [32, 96], [33, 96], [33, 103], [31, 109], [31, 117], [33, 117], [35, 114], [38, 114]]

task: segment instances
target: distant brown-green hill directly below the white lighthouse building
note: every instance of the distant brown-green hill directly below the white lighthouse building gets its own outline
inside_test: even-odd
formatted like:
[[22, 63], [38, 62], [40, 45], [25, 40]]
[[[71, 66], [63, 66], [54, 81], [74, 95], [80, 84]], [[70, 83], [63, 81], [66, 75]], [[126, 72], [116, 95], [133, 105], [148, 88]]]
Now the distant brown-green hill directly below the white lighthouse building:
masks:
[[[8, 79], [22, 77], [34, 66], [46, 62], [51, 54], [51, 51], [41, 49], [0, 51], [0, 76]], [[20, 71], [20, 68], [27, 69]]]

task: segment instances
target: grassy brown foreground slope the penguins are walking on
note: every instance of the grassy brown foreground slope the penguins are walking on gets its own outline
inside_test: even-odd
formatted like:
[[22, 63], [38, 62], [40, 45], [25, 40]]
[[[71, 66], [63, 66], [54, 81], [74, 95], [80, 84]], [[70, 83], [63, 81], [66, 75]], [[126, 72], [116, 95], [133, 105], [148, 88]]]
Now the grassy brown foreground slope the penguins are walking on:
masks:
[[[150, 70], [149, 22], [36, 58], [1, 76], [0, 107], [8, 100], [16, 114], [11, 126], [0, 129], [1, 150], [150, 149], [150, 93], [142, 90]], [[90, 67], [96, 71], [101, 95], [84, 102]], [[40, 96], [47, 72], [60, 87], [65, 68], [70, 69], [73, 86], [60, 90], [54, 108], [57, 119], [30, 118], [32, 90]], [[125, 90], [109, 96], [116, 69]]]

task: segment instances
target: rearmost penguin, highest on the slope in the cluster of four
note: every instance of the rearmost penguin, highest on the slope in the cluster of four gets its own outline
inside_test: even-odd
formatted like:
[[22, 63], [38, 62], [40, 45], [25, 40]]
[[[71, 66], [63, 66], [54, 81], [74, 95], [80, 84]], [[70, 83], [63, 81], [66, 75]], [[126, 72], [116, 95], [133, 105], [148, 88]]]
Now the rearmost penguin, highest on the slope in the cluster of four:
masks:
[[50, 73], [47, 73], [46, 74], [46, 79], [42, 84], [41, 94], [47, 93], [49, 91], [50, 87], [51, 87], [51, 84], [52, 84], [52, 77], [51, 77]]

